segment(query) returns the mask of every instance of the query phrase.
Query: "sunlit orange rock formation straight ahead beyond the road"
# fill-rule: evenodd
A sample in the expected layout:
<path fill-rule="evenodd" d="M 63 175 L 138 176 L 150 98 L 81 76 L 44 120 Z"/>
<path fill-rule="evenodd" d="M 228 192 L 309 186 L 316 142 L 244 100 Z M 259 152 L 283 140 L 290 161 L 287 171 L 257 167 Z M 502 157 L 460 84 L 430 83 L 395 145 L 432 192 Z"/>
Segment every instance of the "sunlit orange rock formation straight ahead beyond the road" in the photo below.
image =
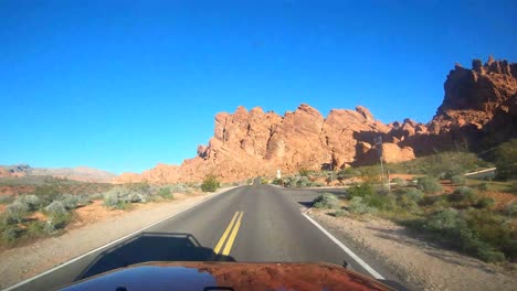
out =
<path fill-rule="evenodd" d="M 390 130 L 361 106 L 356 110 L 334 109 L 326 118 L 306 104 L 284 116 L 264 112 L 260 107 L 250 111 L 238 107 L 233 114 L 215 116 L 213 138 L 208 146 L 198 147 L 196 158 L 180 166 L 160 164 L 139 175 L 126 173 L 117 182 L 189 182 L 200 181 L 208 173 L 235 181 L 271 176 L 277 169 L 284 173 L 302 168 L 339 169 L 366 157 L 373 138 Z M 390 149 L 387 160 L 414 158 L 395 143 L 386 147 Z"/>

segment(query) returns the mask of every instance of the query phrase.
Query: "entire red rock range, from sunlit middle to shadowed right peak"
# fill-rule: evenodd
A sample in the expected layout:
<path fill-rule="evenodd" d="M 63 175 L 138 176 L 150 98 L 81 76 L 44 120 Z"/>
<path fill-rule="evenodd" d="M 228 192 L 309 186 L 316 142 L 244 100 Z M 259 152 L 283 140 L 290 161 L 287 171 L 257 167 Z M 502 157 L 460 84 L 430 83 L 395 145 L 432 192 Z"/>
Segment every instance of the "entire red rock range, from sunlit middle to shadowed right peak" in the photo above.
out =
<path fill-rule="evenodd" d="M 327 117 L 302 104 L 283 116 L 250 111 L 215 116 L 214 134 L 208 146 L 198 147 L 193 159 L 180 166 L 159 164 L 143 174 L 125 173 L 118 182 L 176 183 L 201 181 L 208 173 L 222 181 L 241 181 L 258 175 L 274 176 L 277 169 L 294 173 L 299 169 L 339 169 L 379 161 L 402 162 L 436 150 L 482 150 L 511 137 L 517 130 L 517 64 L 473 61 L 472 69 L 460 64 L 450 72 L 445 96 L 434 118 L 426 125 L 409 118 L 384 125 L 368 108 L 333 109 Z M 383 143 L 374 146 L 381 137 Z"/>

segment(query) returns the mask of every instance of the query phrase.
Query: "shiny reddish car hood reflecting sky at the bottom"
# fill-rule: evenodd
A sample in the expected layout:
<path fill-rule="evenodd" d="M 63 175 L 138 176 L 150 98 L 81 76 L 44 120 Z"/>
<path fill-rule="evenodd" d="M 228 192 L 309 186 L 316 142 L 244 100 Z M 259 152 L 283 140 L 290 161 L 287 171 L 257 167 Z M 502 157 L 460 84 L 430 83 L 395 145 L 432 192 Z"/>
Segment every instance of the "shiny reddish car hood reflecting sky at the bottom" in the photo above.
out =
<path fill-rule="evenodd" d="M 392 290 L 331 263 L 146 262 L 62 290 Z"/>

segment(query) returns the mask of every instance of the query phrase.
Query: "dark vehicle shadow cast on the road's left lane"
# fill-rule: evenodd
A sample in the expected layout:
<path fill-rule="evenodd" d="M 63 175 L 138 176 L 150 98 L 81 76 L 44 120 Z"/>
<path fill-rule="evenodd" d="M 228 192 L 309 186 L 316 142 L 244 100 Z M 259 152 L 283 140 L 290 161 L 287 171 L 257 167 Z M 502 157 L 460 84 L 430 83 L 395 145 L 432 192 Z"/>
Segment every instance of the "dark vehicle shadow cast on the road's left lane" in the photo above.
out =
<path fill-rule="evenodd" d="M 103 251 L 75 280 L 146 261 L 235 261 L 235 259 L 217 255 L 213 249 L 202 247 L 190 234 L 141 233 Z"/>

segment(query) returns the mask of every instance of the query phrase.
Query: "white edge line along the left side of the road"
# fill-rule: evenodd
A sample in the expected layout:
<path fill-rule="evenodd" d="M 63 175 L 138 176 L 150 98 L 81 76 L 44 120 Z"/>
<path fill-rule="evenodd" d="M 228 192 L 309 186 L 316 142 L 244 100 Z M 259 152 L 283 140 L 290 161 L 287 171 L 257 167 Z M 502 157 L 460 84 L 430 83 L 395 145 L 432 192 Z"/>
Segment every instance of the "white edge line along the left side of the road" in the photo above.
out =
<path fill-rule="evenodd" d="M 116 240 L 114 240 L 114 241 L 112 241 L 112 242 L 108 242 L 108 244 L 106 244 L 106 245 L 104 245 L 104 246 L 101 246 L 101 247 L 98 247 L 98 248 L 96 248 L 96 249 L 93 249 L 93 250 L 91 250 L 91 251 L 88 251 L 88 252 L 86 252 L 86 254 L 83 254 L 83 255 L 81 255 L 81 256 L 74 258 L 74 259 L 71 259 L 70 261 L 65 261 L 65 262 L 63 262 L 63 263 L 61 263 L 61 265 L 59 265 L 59 266 L 56 266 L 56 267 L 54 267 L 54 268 L 52 268 L 52 269 L 50 269 L 50 270 L 46 270 L 46 271 L 44 271 L 44 272 L 42 272 L 42 273 L 39 273 L 39 274 L 36 274 L 36 276 L 32 277 L 32 278 L 29 278 L 29 279 L 23 280 L 23 281 L 21 281 L 21 282 L 19 282 L 19 283 L 15 283 L 15 284 L 13 284 L 13 285 L 11 285 L 11 287 L 8 287 L 7 289 L 3 289 L 2 291 L 10 291 L 10 290 L 17 289 L 17 288 L 19 288 L 19 287 L 21 287 L 21 285 L 23 285 L 23 284 L 27 284 L 27 283 L 29 283 L 30 281 L 33 281 L 33 280 L 35 280 L 35 279 L 38 279 L 38 278 L 40 278 L 40 277 L 43 277 L 43 276 L 45 276 L 45 274 L 49 274 L 49 273 L 55 271 L 55 270 L 57 270 L 57 269 L 61 269 L 61 268 L 63 268 L 63 267 L 65 267 L 65 266 L 68 266 L 68 265 L 71 265 L 72 262 L 75 262 L 75 261 L 77 261 L 77 260 L 81 260 L 82 258 L 84 258 L 84 257 L 86 257 L 86 256 L 89 256 L 89 255 L 92 255 L 92 254 L 94 254 L 94 252 L 96 252 L 96 251 L 98 251 L 98 250 L 102 250 L 103 248 L 106 248 L 106 247 L 109 247 L 109 246 L 115 245 L 115 244 L 117 244 L 117 242 L 120 242 L 122 240 L 125 240 L 126 238 L 129 238 L 129 237 L 131 237 L 131 236 L 134 236 L 134 235 L 136 235 L 136 234 L 138 234 L 138 233 L 141 233 L 141 231 L 146 230 L 147 228 L 150 228 L 150 227 L 152 227 L 152 226 L 155 226 L 155 225 L 158 225 L 158 224 L 160 224 L 160 223 L 162 223 L 162 222 L 165 222 L 165 220 L 167 220 L 167 219 L 169 219 L 169 218 L 172 218 L 172 217 L 175 217 L 175 216 L 178 215 L 178 214 L 181 214 L 181 213 L 184 213 L 184 212 L 187 212 L 187 211 L 190 211 L 190 209 L 192 209 L 193 207 L 200 205 L 201 203 L 207 202 L 207 201 L 209 201 L 209 200 L 212 200 L 212 198 L 214 198 L 214 197 L 218 197 L 219 195 L 221 195 L 221 194 L 223 194 L 223 193 L 226 193 L 228 191 L 233 190 L 233 188 L 236 188 L 236 187 L 232 187 L 232 188 L 222 191 L 221 193 L 215 193 L 215 194 L 213 194 L 212 196 L 207 197 L 207 198 L 204 198 L 204 200 L 202 200 L 202 201 L 196 203 L 194 205 L 192 205 L 192 206 L 190 206 L 190 207 L 188 207 L 188 208 L 184 208 L 184 209 L 182 209 L 182 211 L 180 211 L 180 212 L 177 212 L 177 213 L 175 213 L 175 214 L 172 214 L 172 215 L 170 215 L 170 216 L 168 216 L 168 217 L 166 217 L 166 218 L 163 218 L 163 219 L 161 219 L 161 220 L 159 220 L 159 222 L 157 222 L 157 223 L 154 223 L 154 224 L 151 224 L 151 225 L 149 225 L 149 226 L 146 226 L 146 227 L 139 229 L 139 230 L 136 230 L 135 233 L 131 233 L 131 234 L 126 235 L 126 236 L 124 236 L 124 237 L 120 237 L 120 238 L 118 238 L 118 239 L 116 239 Z"/>

